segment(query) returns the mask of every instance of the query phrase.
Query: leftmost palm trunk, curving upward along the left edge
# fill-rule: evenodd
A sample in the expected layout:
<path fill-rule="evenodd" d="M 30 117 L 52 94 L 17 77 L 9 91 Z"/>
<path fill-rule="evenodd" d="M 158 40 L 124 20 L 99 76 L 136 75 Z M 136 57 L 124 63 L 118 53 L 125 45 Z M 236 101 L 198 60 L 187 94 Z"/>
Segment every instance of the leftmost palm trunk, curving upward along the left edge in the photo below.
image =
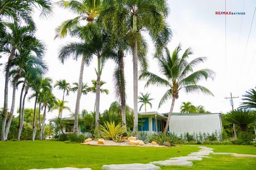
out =
<path fill-rule="evenodd" d="M 10 77 L 10 69 L 11 63 L 13 60 L 15 49 L 12 49 L 12 52 L 8 58 L 6 72 L 5 72 L 5 84 L 4 84 L 4 111 L 2 114 L 2 127 L 1 127 L 1 140 L 5 139 L 5 125 L 7 120 L 7 111 L 8 111 L 8 84 L 9 84 L 9 77 Z"/>

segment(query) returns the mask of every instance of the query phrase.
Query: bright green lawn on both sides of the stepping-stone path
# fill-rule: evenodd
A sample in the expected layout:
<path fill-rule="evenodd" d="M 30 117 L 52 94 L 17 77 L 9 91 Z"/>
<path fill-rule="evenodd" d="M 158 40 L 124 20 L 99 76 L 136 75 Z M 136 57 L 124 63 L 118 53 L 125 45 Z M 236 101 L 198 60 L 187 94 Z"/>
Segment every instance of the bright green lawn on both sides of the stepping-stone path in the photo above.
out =
<path fill-rule="evenodd" d="M 253 146 L 216 146 L 215 152 L 237 152 L 256 155 Z M 103 147 L 57 141 L 0 142 L 0 169 L 30 169 L 49 167 L 90 167 L 101 169 L 105 164 L 149 163 L 170 157 L 186 156 L 197 147 Z M 162 167 L 162 169 L 255 169 L 255 158 L 234 158 L 213 155 L 192 167 Z"/>

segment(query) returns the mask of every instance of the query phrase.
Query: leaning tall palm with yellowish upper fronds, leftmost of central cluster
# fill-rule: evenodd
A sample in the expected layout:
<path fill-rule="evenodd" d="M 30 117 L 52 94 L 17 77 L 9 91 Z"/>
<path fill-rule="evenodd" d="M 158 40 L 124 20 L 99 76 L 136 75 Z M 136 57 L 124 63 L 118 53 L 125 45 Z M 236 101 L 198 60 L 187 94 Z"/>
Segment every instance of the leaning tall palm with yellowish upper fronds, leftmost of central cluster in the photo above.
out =
<path fill-rule="evenodd" d="M 82 92 L 82 82 L 83 82 L 83 71 L 84 71 L 84 64 L 89 65 L 91 61 L 91 57 L 86 52 L 85 43 L 86 41 L 90 41 L 92 39 L 92 30 L 94 28 L 93 22 L 94 19 L 99 16 L 99 12 L 101 10 L 101 1 L 100 0 L 85 0 L 83 2 L 80 1 L 60 1 L 60 6 L 64 8 L 68 8 L 69 10 L 73 11 L 74 13 L 78 14 L 78 16 L 74 19 L 64 21 L 57 29 L 56 37 L 65 37 L 68 32 L 71 35 L 77 36 L 81 33 L 77 33 L 79 29 L 77 27 L 80 25 L 82 20 L 86 20 L 88 23 L 82 27 L 84 35 L 80 38 L 83 39 L 83 43 L 70 43 L 67 46 L 64 46 L 60 50 L 59 59 L 62 61 L 66 60 L 68 56 L 71 54 L 75 54 L 75 58 L 77 60 L 78 56 L 82 56 L 82 62 L 80 67 L 80 74 L 79 74 L 79 81 L 78 81 L 78 90 L 77 90 L 77 97 L 76 97 L 76 108 L 75 108 L 75 124 L 74 124 L 74 132 L 78 134 L 78 114 L 79 114 L 79 106 L 80 106 L 80 99 L 81 99 L 81 92 Z M 75 30 L 75 31 L 74 31 Z M 75 33 L 71 33 L 71 32 Z M 80 29 L 81 32 L 81 29 Z M 62 53 L 63 52 L 63 53 Z"/>

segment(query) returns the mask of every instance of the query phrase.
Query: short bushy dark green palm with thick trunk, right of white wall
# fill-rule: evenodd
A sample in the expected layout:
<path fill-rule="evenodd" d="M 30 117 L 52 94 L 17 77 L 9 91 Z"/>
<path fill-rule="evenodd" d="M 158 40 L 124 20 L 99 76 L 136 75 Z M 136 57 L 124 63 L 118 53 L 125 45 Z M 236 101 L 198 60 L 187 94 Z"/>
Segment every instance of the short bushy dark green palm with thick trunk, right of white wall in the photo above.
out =
<path fill-rule="evenodd" d="M 256 122 L 256 115 L 252 111 L 234 110 L 226 115 L 225 120 L 229 123 L 237 124 L 240 126 L 241 132 L 247 132 L 247 126 Z"/>

